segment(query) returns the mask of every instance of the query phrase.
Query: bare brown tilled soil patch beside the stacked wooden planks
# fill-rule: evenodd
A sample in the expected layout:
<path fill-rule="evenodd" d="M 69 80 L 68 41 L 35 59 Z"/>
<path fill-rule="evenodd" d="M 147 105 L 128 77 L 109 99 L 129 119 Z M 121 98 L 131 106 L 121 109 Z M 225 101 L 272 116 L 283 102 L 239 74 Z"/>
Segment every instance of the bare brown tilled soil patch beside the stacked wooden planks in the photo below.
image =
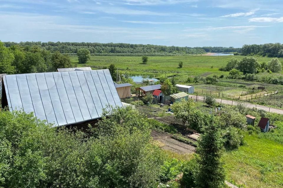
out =
<path fill-rule="evenodd" d="M 152 131 L 151 136 L 154 140 L 157 140 L 163 144 L 161 146 L 162 149 L 170 150 L 180 154 L 188 154 L 195 152 L 195 147 L 172 139 L 170 137 L 170 134 Z"/>

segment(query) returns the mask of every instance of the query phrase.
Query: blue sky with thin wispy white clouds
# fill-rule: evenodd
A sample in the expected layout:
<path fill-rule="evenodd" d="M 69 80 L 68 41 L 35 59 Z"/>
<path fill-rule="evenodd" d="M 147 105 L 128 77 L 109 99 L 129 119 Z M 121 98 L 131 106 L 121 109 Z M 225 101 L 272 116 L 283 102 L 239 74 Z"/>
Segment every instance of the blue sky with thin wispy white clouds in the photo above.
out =
<path fill-rule="evenodd" d="M 0 0 L 0 40 L 189 47 L 282 43 L 282 7 L 282 0 Z"/>

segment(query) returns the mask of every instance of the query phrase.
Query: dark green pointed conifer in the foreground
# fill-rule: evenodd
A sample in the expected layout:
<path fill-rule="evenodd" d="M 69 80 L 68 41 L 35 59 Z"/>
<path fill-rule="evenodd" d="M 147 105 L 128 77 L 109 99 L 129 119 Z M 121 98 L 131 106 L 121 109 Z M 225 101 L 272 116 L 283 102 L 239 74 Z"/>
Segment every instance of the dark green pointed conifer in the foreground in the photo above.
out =
<path fill-rule="evenodd" d="M 203 129 L 198 140 L 198 172 L 196 184 L 199 188 L 221 188 L 224 185 L 225 172 L 221 162 L 223 141 L 213 116 Z"/>

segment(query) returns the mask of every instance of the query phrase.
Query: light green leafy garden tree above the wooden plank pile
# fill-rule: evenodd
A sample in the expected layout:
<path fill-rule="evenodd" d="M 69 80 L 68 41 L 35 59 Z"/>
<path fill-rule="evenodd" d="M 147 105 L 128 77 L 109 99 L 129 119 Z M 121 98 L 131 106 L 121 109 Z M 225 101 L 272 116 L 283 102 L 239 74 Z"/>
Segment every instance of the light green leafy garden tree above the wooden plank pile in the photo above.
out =
<path fill-rule="evenodd" d="M 181 99 L 181 102 L 176 102 L 171 106 L 176 119 L 182 121 L 183 128 L 185 128 L 186 122 L 195 130 L 200 130 L 204 124 L 204 115 L 200 110 L 197 110 L 194 106 L 192 99 Z"/>

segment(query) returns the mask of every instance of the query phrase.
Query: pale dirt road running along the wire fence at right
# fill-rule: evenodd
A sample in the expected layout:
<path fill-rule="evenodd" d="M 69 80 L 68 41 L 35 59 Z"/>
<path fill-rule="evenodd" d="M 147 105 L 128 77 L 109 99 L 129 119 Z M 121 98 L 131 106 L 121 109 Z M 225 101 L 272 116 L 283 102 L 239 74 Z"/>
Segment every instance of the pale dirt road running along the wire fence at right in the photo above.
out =
<path fill-rule="evenodd" d="M 203 101 L 204 96 L 200 96 L 200 95 L 189 95 L 190 98 L 195 99 L 197 101 Z M 215 98 L 216 102 L 218 103 L 223 103 L 223 104 L 227 104 L 227 105 L 237 105 L 237 104 L 244 104 L 246 107 L 248 108 L 257 108 L 257 109 L 262 109 L 265 110 L 266 112 L 271 112 L 271 113 L 277 113 L 277 114 L 283 114 L 283 110 L 282 109 L 277 109 L 277 108 L 271 108 L 271 107 L 267 107 L 267 106 L 261 106 L 261 105 L 254 105 L 251 103 L 243 103 L 243 102 L 237 102 L 234 100 L 225 100 L 225 99 L 219 99 L 219 98 Z"/>

